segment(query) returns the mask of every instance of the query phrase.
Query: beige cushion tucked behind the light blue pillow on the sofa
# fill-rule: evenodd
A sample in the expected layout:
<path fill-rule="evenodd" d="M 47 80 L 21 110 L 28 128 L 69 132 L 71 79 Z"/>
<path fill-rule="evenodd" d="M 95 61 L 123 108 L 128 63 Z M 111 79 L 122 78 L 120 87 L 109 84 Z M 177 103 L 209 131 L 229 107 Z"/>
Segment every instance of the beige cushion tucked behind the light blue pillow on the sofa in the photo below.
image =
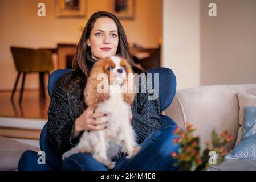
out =
<path fill-rule="evenodd" d="M 245 106 L 256 106 L 256 96 L 246 93 L 237 93 L 238 103 L 239 103 L 239 127 L 237 134 L 237 141 L 235 142 L 235 146 L 239 142 L 241 142 L 241 138 L 243 135 L 243 119 L 245 118 L 244 110 Z"/>

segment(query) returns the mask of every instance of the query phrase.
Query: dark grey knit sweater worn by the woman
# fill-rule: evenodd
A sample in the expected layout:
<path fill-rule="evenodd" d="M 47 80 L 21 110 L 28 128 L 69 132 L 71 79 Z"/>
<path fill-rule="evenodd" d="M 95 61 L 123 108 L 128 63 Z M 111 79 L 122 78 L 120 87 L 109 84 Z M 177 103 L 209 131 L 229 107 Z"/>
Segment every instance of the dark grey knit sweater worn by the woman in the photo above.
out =
<path fill-rule="evenodd" d="M 59 78 L 48 109 L 50 144 L 59 154 L 76 146 L 83 134 L 82 132 L 72 139 L 75 120 L 87 108 L 84 104 L 83 85 L 72 81 L 75 74 L 75 72 L 70 72 Z M 148 100 L 148 93 L 137 93 L 132 106 L 132 114 L 132 126 L 138 143 L 143 142 L 149 134 L 161 129 L 159 98 Z"/>

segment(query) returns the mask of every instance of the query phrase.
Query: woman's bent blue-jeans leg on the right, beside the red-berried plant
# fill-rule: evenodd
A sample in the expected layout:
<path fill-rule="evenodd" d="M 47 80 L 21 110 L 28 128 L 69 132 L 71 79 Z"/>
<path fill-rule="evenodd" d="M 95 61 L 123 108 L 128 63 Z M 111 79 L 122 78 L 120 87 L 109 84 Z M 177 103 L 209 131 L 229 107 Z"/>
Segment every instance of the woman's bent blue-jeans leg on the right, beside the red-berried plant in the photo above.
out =
<path fill-rule="evenodd" d="M 171 152 L 178 151 L 179 145 L 173 143 L 177 138 L 173 134 L 176 126 L 168 126 L 157 130 L 141 143 L 141 150 L 131 159 L 117 160 L 115 170 L 176 170 L 177 160 Z"/>

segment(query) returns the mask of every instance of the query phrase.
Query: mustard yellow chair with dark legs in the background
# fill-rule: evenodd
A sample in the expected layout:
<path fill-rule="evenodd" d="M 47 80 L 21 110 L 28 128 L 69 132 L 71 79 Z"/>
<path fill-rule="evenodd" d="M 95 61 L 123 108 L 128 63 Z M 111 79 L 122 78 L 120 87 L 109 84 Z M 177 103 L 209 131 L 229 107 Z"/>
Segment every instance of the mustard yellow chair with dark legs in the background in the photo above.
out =
<path fill-rule="evenodd" d="M 45 97 L 44 92 L 44 73 L 50 76 L 50 71 L 54 69 L 52 63 L 51 51 L 43 51 L 39 49 L 30 49 L 22 47 L 11 46 L 11 53 L 13 55 L 13 60 L 15 68 L 18 71 L 18 76 L 14 84 L 13 92 L 11 93 L 11 100 L 13 101 L 14 94 L 17 88 L 19 77 L 23 73 L 21 93 L 19 95 L 19 102 L 22 101 L 23 89 L 25 84 L 25 77 L 27 73 L 39 73 L 40 77 L 40 90 L 43 97 Z"/>

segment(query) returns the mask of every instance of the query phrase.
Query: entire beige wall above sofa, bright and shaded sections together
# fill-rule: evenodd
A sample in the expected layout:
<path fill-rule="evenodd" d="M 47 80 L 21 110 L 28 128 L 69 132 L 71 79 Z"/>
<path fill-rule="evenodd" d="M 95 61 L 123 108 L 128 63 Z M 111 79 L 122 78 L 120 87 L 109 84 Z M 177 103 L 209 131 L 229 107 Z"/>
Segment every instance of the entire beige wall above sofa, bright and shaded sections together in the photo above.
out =
<path fill-rule="evenodd" d="M 177 89 L 256 82 L 255 9 L 254 0 L 163 1 L 162 65 Z"/>

